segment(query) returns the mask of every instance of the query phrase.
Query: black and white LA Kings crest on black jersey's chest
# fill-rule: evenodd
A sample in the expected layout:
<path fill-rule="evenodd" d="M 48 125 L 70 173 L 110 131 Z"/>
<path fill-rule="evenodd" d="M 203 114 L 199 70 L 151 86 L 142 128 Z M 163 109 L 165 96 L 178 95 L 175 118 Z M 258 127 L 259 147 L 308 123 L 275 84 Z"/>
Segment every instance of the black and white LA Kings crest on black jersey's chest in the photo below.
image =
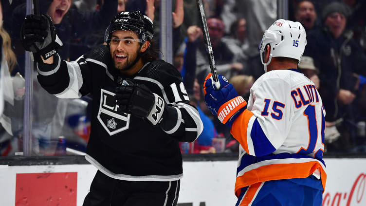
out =
<path fill-rule="evenodd" d="M 129 126 L 130 114 L 118 109 L 114 93 L 100 89 L 100 105 L 98 120 L 103 128 L 111 135 L 125 131 Z"/>

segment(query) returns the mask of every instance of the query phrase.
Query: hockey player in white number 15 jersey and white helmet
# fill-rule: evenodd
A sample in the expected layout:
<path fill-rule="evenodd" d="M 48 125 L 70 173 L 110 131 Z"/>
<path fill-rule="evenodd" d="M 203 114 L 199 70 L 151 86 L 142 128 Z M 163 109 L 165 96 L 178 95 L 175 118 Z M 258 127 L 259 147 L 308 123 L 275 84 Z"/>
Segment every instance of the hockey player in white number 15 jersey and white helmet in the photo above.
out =
<path fill-rule="evenodd" d="M 306 46 L 299 22 L 276 20 L 264 32 L 265 74 L 248 103 L 219 75 L 204 83 L 205 102 L 240 143 L 236 206 L 321 206 L 325 110 L 314 83 L 297 70 Z"/>

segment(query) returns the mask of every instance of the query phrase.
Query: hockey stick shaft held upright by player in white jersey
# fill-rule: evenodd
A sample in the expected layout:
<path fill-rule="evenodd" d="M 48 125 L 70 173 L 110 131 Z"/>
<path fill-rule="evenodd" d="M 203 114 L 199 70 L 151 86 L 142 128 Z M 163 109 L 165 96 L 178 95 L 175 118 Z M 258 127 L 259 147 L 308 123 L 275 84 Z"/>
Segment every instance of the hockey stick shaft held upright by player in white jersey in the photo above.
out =
<path fill-rule="evenodd" d="M 210 63 L 212 79 L 214 80 L 214 84 L 216 86 L 216 89 L 218 90 L 218 89 L 220 89 L 221 85 L 220 85 L 219 77 L 217 75 L 216 64 L 215 64 L 215 59 L 214 59 L 214 53 L 212 51 L 210 37 L 208 36 L 206 15 L 204 13 L 202 0 L 196 0 L 196 3 L 197 3 L 198 13 L 200 15 L 201 23 L 202 23 L 203 38 L 204 38 L 204 43 L 205 43 L 205 46 L 206 46 L 208 61 Z"/>

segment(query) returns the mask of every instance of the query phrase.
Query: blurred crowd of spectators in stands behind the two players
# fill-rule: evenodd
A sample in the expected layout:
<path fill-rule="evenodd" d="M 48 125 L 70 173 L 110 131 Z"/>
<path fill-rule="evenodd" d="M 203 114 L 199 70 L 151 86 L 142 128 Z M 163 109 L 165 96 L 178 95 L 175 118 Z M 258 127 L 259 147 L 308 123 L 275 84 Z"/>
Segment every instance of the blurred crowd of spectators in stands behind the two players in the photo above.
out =
<path fill-rule="evenodd" d="M 50 15 L 63 42 L 59 51 L 63 59 L 76 60 L 93 46 L 103 44 L 105 29 L 121 11 L 146 13 L 154 21 L 154 40 L 159 42 L 160 0 L 41 0 L 40 3 L 41 13 Z M 203 0 L 203 3 L 218 73 L 229 79 L 238 94 L 248 100 L 251 86 L 264 74 L 258 45 L 263 32 L 279 19 L 277 2 Z M 27 69 L 25 51 L 19 41 L 26 3 L 23 0 L 1 0 L 1 5 L 1 29 L 9 33 L 11 49 L 17 59 L 17 63 L 14 60 L 8 63 L 13 68 L 11 75 L 17 79 L 17 76 L 24 76 Z M 204 124 L 197 141 L 181 143 L 182 152 L 237 153 L 238 142 L 207 110 L 203 100 L 202 83 L 210 73 L 210 66 L 196 0 L 174 0 L 173 8 L 172 64 L 181 72 L 189 99 L 198 108 Z M 289 0 L 288 20 L 301 22 L 307 32 L 307 46 L 298 68 L 315 83 L 327 112 L 326 153 L 366 152 L 365 10 L 366 0 Z M 68 147 L 85 151 L 90 132 L 88 102 L 91 98 L 58 99 L 43 91 L 35 80 L 32 108 L 34 151 L 49 155 L 42 153 L 42 148 L 47 150 L 52 145 L 50 142 L 57 143 L 60 136 L 70 143 Z M 20 103 L 8 108 L 22 111 L 22 98 L 18 101 Z M 19 114 L 13 115 L 10 133 L 9 127 L 0 121 L 0 155 L 13 155 L 14 152 L 10 151 L 21 150 L 22 126 L 19 125 L 22 118 Z M 16 143 L 9 136 L 16 138 Z M 223 140 L 220 142 L 224 145 L 220 148 L 220 145 L 213 144 L 217 142 L 214 139 Z M 18 146 L 12 147 L 14 144 Z"/>

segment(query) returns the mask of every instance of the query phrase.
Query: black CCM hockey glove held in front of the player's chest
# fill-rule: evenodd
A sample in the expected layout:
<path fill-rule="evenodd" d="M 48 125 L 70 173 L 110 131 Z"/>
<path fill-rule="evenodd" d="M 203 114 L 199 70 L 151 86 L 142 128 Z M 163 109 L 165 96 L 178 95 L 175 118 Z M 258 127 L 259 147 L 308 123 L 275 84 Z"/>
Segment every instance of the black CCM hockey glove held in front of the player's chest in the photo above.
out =
<path fill-rule="evenodd" d="M 116 88 L 116 93 L 116 103 L 123 112 L 145 117 L 153 125 L 157 125 L 162 120 L 165 102 L 145 85 L 126 79 L 121 87 Z"/>

